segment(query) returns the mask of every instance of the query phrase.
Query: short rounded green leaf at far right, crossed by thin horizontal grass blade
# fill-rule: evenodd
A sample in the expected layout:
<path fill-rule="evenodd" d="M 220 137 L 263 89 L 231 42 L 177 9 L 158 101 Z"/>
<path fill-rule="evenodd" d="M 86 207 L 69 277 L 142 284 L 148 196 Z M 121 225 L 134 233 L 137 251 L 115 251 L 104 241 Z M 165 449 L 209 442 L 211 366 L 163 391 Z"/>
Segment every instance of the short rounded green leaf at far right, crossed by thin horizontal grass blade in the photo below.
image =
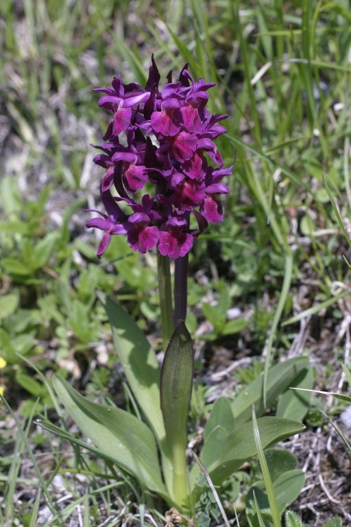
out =
<path fill-rule="evenodd" d="M 313 388 L 313 373 L 311 366 L 304 368 L 291 383 L 291 388 Z M 280 395 L 276 411 L 277 417 L 288 417 L 301 421 L 308 412 L 311 401 L 310 392 L 291 390 L 290 387 Z"/>

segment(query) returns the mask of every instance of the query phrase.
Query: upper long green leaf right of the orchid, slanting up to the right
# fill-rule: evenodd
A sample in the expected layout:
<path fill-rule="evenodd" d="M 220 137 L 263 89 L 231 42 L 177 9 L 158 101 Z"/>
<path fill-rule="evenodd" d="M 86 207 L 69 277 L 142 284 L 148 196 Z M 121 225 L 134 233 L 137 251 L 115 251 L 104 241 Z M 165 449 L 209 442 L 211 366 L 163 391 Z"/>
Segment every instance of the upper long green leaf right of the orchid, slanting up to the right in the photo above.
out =
<path fill-rule="evenodd" d="M 267 406 L 284 392 L 293 379 L 308 364 L 308 358 L 298 357 L 281 362 L 270 368 L 267 376 Z M 232 412 L 235 426 L 246 423 L 251 418 L 252 404 L 255 405 L 256 415 L 259 417 L 265 412 L 263 405 L 263 375 L 257 377 L 249 384 L 232 402 Z"/>

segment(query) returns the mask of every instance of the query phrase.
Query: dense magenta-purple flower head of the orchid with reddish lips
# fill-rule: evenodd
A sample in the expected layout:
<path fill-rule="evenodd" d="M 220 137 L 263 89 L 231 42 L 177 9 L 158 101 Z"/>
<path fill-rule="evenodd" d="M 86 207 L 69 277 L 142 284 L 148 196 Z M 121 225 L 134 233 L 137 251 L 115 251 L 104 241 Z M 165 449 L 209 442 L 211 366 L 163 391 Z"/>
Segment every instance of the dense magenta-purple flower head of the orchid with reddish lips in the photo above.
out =
<path fill-rule="evenodd" d="M 209 114 L 205 106 L 208 89 L 214 83 L 204 79 L 193 81 L 188 64 L 177 82 L 168 83 L 159 91 L 160 73 L 152 56 L 152 66 L 145 89 L 136 82 L 123 84 L 118 76 L 112 88 L 99 88 L 105 95 L 99 106 L 111 110 L 113 118 L 102 146 L 94 158 L 106 169 L 101 183 L 101 200 L 107 214 L 90 220 L 86 226 L 104 231 L 97 250 L 101 256 L 111 235 L 127 235 L 130 247 L 139 253 L 157 246 L 161 255 L 171 259 L 189 253 L 194 239 L 206 229 L 208 222 L 223 220 L 217 196 L 228 194 L 229 187 L 219 183 L 232 173 L 223 168 L 223 160 L 213 139 L 226 132 L 219 121 L 227 115 Z M 125 132 L 127 146 L 119 142 Z M 204 152 L 219 167 L 208 165 Z M 156 185 L 156 198 L 144 194 L 141 202 L 130 197 L 145 187 Z M 117 196 L 110 189 L 114 185 Z M 119 202 L 126 202 L 128 215 Z M 189 229 L 189 215 L 195 215 L 198 229 Z"/>

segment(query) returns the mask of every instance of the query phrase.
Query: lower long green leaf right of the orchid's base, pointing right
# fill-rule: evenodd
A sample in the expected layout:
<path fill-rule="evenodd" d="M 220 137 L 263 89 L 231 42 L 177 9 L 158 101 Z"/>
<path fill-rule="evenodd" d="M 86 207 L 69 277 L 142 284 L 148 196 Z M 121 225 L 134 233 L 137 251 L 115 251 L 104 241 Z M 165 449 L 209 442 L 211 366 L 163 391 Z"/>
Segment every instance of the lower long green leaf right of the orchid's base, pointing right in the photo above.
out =
<path fill-rule="evenodd" d="M 282 417 L 261 417 L 257 419 L 258 430 L 263 448 L 267 448 L 279 441 L 303 432 L 306 427 L 297 421 Z M 217 466 L 210 471 L 214 484 L 221 484 L 232 475 L 245 461 L 257 454 L 252 423 L 245 423 L 230 434 L 223 445 L 222 452 L 218 452 Z M 191 470 L 191 488 L 195 485 L 198 475 L 196 465 Z"/>

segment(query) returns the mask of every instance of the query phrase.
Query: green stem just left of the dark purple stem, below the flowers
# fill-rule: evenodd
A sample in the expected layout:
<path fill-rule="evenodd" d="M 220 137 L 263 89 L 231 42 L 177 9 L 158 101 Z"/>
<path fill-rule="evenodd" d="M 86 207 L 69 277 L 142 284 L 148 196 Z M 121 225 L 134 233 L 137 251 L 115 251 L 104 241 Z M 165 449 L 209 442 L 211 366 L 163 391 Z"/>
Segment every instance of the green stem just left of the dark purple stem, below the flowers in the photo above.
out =
<path fill-rule="evenodd" d="M 171 269 L 169 267 L 169 257 L 157 253 L 158 270 L 158 292 L 160 294 L 161 327 L 163 339 L 163 351 L 166 351 L 173 335 L 173 307 L 172 307 L 172 288 L 171 288 Z"/>

